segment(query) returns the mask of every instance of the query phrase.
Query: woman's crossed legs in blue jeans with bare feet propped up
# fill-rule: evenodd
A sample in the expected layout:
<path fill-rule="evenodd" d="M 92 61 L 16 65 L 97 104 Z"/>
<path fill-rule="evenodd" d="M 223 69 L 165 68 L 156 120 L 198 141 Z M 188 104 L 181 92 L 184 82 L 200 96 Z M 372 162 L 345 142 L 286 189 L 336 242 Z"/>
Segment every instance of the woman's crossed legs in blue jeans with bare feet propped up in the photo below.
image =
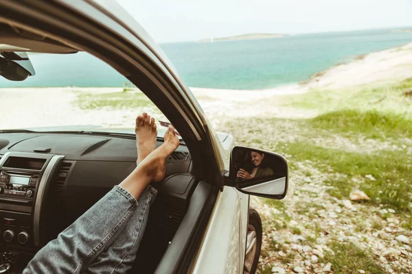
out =
<path fill-rule="evenodd" d="M 137 133 L 139 129 L 147 134 L 146 120 L 141 122 L 142 127 L 138 127 L 139 121 L 138 117 Z M 146 158 L 142 156 L 144 149 L 139 151 L 137 168 L 38 251 L 23 273 L 113 273 L 129 269 L 146 227 L 148 208 L 156 195 L 148 184 L 163 179 L 165 160 L 178 145 L 170 127 L 158 149 L 151 153 L 148 149 Z"/>

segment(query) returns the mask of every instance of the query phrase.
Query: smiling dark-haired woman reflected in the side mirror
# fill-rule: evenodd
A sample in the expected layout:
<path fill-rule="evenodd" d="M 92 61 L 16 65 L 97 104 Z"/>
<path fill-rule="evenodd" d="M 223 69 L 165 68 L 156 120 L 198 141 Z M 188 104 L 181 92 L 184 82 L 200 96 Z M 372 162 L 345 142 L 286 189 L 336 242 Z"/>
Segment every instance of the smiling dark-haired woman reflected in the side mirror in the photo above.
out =
<path fill-rule="evenodd" d="M 273 175 L 273 170 L 266 166 L 265 154 L 258 151 L 251 151 L 249 153 L 249 160 L 247 160 L 244 169 L 239 169 L 237 177 L 241 179 L 253 179 Z"/>

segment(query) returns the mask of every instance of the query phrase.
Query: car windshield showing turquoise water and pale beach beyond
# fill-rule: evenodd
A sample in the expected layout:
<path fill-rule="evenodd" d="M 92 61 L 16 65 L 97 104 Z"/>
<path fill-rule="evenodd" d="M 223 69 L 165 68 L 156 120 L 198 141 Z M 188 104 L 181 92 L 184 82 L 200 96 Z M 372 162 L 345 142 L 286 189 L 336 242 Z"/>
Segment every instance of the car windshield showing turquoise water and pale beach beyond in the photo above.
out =
<path fill-rule="evenodd" d="M 89 53 L 27 55 L 34 76 L 0 77 L 0 129 L 134 134 L 142 112 L 168 122 L 126 77 Z M 162 137 L 163 127 L 158 128 Z"/>

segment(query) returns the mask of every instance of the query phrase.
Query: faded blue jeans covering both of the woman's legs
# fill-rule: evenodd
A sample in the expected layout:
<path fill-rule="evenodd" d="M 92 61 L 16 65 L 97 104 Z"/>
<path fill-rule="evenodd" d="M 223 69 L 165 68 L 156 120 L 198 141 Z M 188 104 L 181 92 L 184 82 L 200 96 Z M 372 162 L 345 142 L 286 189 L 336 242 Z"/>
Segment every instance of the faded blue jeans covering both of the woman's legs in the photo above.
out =
<path fill-rule="evenodd" d="M 139 199 L 115 186 L 27 264 L 26 273 L 126 273 L 133 265 L 157 190 Z"/>

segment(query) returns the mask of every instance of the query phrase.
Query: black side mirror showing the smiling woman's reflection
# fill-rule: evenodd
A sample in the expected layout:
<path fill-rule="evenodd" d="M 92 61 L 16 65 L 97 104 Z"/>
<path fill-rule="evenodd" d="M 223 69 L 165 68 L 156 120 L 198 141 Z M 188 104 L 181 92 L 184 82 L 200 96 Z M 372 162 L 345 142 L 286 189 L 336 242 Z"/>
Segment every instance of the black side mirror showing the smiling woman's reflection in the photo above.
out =
<path fill-rule="evenodd" d="M 288 162 L 277 153 L 233 147 L 229 179 L 240 192 L 283 199 L 288 190 Z"/>

